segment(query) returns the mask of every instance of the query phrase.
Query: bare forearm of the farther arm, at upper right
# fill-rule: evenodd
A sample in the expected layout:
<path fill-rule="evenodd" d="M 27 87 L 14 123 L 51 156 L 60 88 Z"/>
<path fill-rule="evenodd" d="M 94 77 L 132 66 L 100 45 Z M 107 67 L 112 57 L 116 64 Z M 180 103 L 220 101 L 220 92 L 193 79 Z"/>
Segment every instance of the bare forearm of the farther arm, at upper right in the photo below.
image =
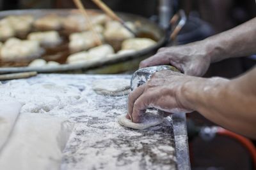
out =
<path fill-rule="evenodd" d="M 256 53 L 256 18 L 204 39 L 211 62 Z"/>

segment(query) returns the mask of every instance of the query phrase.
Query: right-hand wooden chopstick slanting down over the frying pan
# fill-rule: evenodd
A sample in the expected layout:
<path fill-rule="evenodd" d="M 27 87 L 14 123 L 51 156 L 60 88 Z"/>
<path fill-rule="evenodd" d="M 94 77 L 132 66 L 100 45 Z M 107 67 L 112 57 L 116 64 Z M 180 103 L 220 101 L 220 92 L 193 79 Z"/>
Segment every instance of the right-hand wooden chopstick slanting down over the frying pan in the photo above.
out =
<path fill-rule="evenodd" d="M 118 22 L 120 22 L 120 24 L 122 24 L 125 29 L 127 29 L 129 32 L 131 32 L 132 34 L 134 34 L 134 36 L 136 36 L 136 32 L 132 31 L 124 22 L 124 20 L 122 20 L 122 18 L 118 17 L 115 12 L 113 10 L 111 10 L 105 3 L 103 3 L 101 0 L 92 0 L 93 3 L 97 4 L 97 6 L 99 6 L 99 8 L 104 11 L 109 17 L 111 17 L 113 20 L 116 20 Z"/>

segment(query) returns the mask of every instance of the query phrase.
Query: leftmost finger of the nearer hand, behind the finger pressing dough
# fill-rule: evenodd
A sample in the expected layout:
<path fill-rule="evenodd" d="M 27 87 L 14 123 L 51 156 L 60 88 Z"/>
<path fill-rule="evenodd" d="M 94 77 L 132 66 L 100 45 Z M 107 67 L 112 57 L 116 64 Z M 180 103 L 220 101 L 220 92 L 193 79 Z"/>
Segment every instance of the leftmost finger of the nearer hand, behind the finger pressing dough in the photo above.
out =
<path fill-rule="evenodd" d="M 128 115 L 130 118 L 132 118 L 131 115 L 132 115 L 134 103 L 135 103 L 136 99 L 138 99 L 138 97 L 140 97 L 141 94 L 143 94 L 144 90 L 145 90 L 145 85 L 141 85 L 140 87 L 137 87 L 129 94 L 129 96 L 128 96 Z"/>

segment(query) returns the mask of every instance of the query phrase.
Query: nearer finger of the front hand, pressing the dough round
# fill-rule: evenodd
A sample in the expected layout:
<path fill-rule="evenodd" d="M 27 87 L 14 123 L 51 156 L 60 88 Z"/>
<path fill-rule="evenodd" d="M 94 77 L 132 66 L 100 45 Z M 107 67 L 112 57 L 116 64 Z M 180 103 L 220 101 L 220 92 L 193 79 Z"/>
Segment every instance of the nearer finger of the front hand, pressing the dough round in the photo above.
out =
<path fill-rule="evenodd" d="M 148 101 L 150 101 L 150 99 L 145 96 L 146 95 L 142 94 L 134 103 L 132 110 L 132 122 L 134 123 L 140 123 L 142 115 L 148 108 Z"/>

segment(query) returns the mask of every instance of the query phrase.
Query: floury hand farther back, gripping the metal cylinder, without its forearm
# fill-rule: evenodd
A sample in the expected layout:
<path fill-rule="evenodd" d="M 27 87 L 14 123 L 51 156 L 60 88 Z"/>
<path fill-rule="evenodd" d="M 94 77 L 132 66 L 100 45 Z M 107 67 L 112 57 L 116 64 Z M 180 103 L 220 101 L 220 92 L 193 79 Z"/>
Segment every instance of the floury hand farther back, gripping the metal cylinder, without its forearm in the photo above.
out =
<path fill-rule="evenodd" d="M 140 68 L 164 64 L 177 67 L 189 76 L 203 76 L 211 64 L 211 57 L 205 42 L 198 41 L 188 45 L 160 48 L 155 55 L 141 61 Z"/>

